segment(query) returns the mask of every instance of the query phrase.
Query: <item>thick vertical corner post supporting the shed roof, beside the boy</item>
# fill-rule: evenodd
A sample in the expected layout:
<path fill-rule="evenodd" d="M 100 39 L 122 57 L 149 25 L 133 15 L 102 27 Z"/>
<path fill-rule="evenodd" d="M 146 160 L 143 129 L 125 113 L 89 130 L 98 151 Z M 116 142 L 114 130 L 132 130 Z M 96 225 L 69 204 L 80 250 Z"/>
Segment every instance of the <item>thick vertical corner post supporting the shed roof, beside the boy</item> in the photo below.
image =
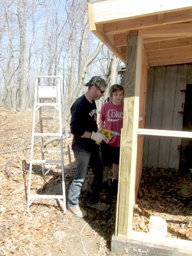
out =
<path fill-rule="evenodd" d="M 137 129 L 141 83 L 143 37 L 127 37 L 125 68 L 124 124 L 122 133 L 116 230 L 118 236 L 131 236 L 136 173 Z"/>

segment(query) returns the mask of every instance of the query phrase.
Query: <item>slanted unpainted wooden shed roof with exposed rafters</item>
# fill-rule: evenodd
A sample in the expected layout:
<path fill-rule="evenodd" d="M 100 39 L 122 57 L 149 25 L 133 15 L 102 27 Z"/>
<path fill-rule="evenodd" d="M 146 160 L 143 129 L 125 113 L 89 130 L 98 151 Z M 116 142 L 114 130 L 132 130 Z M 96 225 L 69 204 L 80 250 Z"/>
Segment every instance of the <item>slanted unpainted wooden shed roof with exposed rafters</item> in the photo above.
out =
<path fill-rule="evenodd" d="M 125 63 L 127 35 L 142 35 L 150 67 L 192 62 L 192 0 L 88 4 L 90 30 Z"/>

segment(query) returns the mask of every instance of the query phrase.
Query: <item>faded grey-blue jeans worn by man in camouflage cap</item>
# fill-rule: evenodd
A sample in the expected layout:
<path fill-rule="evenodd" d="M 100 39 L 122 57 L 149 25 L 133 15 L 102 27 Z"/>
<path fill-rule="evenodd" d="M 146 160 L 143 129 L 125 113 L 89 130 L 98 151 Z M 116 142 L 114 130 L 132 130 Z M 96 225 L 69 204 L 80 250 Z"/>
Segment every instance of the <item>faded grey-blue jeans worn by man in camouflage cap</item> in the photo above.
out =
<path fill-rule="evenodd" d="M 84 186 L 88 165 L 92 168 L 94 175 L 91 189 L 88 192 L 88 202 L 92 204 L 98 202 L 104 170 L 100 149 L 98 148 L 98 150 L 94 150 L 93 152 L 79 152 L 74 150 L 74 157 L 76 159 L 76 173 L 68 191 L 67 204 L 69 206 L 79 205 L 79 195 Z"/>

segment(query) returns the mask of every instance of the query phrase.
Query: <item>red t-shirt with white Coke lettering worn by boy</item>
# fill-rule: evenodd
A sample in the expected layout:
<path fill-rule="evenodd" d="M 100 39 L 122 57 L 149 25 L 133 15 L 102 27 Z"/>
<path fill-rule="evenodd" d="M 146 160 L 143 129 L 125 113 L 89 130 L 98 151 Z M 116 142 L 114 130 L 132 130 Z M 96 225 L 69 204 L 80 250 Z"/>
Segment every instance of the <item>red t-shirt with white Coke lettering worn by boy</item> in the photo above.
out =
<path fill-rule="evenodd" d="M 100 120 L 104 122 L 104 129 L 121 132 L 123 127 L 124 102 L 114 105 L 112 101 L 102 105 Z M 108 142 L 113 147 L 120 147 L 120 136 L 113 136 Z"/>

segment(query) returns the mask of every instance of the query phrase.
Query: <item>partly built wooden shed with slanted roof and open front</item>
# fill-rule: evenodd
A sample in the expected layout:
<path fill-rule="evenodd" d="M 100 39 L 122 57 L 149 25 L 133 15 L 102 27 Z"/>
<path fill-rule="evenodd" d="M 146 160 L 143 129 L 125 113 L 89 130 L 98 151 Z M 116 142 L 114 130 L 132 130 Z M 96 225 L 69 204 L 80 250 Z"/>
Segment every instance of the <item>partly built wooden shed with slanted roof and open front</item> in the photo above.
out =
<path fill-rule="evenodd" d="M 192 0 L 103 0 L 88 8 L 90 30 L 125 63 L 111 249 L 120 253 L 126 248 L 129 255 L 192 255 L 191 241 L 132 230 L 143 166 L 179 168 L 182 140 L 183 145 L 192 141 L 190 122 L 183 129 L 184 103 L 186 98 L 190 102 L 192 85 Z"/>

